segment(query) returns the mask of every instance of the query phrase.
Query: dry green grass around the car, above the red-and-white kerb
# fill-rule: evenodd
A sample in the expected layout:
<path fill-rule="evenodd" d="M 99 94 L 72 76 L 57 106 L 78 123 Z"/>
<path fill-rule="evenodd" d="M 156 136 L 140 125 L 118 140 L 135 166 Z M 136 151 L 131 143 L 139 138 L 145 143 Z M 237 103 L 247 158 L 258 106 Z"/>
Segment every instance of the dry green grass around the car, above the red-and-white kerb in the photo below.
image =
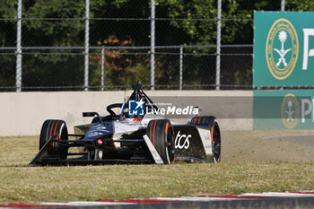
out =
<path fill-rule="evenodd" d="M 0 204 L 281 192 L 314 188 L 314 161 L 311 158 L 297 161 L 282 157 L 281 161 L 276 161 L 252 158 L 248 154 L 239 155 L 240 149 L 249 148 L 246 148 L 247 144 L 242 144 L 244 148 L 237 145 L 237 140 L 251 144 L 250 150 L 258 150 L 264 142 L 258 136 L 262 133 L 230 131 L 223 135 L 226 137 L 225 145 L 222 145 L 225 157 L 222 155 L 222 162 L 218 164 L 60 167 L 28 166 L 38 152 L 38 136 L 0 137 Z M 229 135 L 240 135 L 240 139 L 228 139 Z M 272 144 L 267 141 L 269 143 Z M 282 145 L 290 156 L 289 144 Z M 235 149 L 237 146 L 239 148 Z M 295 152 L 300 149 L 310 152 L 306 150 L 309 147 L 291 146 Z M 277 148 L 275 145 L 274 149 Z M 278 150 L 282 151 L 281 147 Z M 255 156 L 254 152 L 248 153 Z M 277 155 L 274 156 L 276 158 Z"/>

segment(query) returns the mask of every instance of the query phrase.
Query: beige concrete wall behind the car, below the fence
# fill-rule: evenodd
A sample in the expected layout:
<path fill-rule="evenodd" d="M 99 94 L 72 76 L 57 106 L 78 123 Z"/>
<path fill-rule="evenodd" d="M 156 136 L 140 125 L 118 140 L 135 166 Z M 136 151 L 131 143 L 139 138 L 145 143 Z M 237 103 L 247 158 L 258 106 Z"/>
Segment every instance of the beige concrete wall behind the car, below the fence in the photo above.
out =
<path fill-rule="evenodd" d="M 97 111 L 107 115 L 106 107 L 122 102 L 132 91 L 59 91 L 59 92 L 2 92 L 0 93 L 0 136 L 39 135 L 46 119 L 65 120 L 69 132 L 73 126 L 91 122 L 83 118 L 83 111 Z M 187 97 L 251 97 L 252 91 L 146 91 L 154 96 Z M 231 102 L 215 105 L 214 115 L 219 119 L 222 130 L 252 129 L 251 118 L 219 118 L 233 107 Z M 252 112 L 252 102 L 240 111 Z M 238 111 L 236 109 L 235 111 Z M 234 111 L 234 110 L 233 110 Z M 179 121 L 179 122 L 185 122 Z"/>

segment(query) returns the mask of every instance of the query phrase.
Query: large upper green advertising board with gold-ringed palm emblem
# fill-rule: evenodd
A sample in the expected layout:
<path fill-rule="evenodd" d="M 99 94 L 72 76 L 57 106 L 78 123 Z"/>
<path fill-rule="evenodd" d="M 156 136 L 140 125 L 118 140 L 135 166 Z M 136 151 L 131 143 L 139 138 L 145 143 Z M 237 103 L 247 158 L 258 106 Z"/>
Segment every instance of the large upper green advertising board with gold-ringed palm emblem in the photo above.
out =
<path fill-rule="evenodd" d="M 314 86 L 314 12 L 255 11 L 253 85 Z"/>

